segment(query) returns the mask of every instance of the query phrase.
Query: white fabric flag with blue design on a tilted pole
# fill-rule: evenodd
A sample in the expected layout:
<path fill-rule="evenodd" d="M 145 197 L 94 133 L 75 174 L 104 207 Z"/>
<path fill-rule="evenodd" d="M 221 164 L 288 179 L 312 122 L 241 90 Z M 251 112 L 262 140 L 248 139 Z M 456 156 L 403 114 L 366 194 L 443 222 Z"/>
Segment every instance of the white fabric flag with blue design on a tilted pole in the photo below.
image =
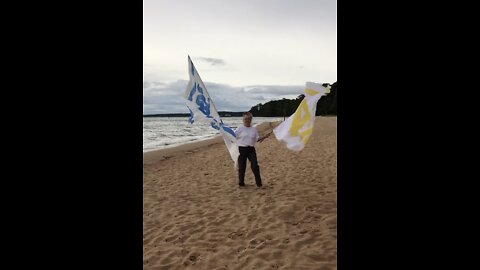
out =
<path fill-rule="evenodd" d="M 213 104 L 213 100 L 210 98 L 202 79 L 200 79 L 200 75 L 193 65 L 190 56 L 188 56 L 188 73 L 190 75 L 190 81 L 183 94 L 186 105 L 190 110 L 190 118 L 188 121 L 191 124 L 195 121 L 206 122 L 210 124 L 212 128 L 220 131 L 228 152 L 235 163 L 235 168 L 237 168 L 237 161 L 240 153 L 238 152 L 235 132 L 230 127 L 223 124 L 222 119 L 220 119 L 220 115 Z"/>

